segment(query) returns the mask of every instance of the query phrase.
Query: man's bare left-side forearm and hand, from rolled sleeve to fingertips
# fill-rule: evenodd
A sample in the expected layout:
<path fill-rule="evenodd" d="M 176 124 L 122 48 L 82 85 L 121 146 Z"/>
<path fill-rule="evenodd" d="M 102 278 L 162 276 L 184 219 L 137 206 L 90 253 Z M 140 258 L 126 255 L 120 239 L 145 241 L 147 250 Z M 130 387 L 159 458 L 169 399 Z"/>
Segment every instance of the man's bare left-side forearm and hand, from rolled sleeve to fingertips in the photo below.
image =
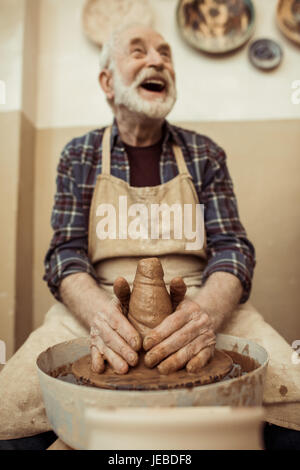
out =
<path fill-rule="evenodd" d="M 63 303 L 91 331 L 92 369 L 104 371 L 106 359 L 118 374 L 136 365 L 142 340 L 126 316 L 130 288 L 124 278 L 114 283 L 111 296 L 87 273 L 75 273 L 62 280 Z M 99 312 L 100 310 L 100 312 Z"/>

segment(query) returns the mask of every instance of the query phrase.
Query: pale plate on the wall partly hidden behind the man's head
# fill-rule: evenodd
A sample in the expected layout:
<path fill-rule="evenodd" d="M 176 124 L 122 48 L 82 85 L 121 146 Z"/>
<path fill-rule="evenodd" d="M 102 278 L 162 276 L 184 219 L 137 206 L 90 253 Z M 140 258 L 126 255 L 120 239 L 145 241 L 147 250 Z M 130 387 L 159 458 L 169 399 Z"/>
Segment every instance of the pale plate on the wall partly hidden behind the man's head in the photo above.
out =
<path fill-rule="evenodd" d="M 82 24 L 87 37 L 102 47 L 111 32 L 122 24 L 151 26 L 153 17 L 149 0 L 86 0 Z"/>

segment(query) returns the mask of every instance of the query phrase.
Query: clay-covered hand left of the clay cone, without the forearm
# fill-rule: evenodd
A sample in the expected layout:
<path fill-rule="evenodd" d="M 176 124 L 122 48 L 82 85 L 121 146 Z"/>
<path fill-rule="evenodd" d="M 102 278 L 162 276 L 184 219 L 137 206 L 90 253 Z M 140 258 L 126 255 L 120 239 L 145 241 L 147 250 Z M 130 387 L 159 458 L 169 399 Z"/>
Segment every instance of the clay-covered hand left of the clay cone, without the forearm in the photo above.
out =
<path fill-rule="evenodd" d="M 92 370 L 104 372 L 106 359 L 117 374 L 126 374 L 128 366 L 138 363 L 141 336 L 128 321 L 130 287 L 124 278 L 116 279 L 114 297 L 94 318 L 91 326 Z"/>

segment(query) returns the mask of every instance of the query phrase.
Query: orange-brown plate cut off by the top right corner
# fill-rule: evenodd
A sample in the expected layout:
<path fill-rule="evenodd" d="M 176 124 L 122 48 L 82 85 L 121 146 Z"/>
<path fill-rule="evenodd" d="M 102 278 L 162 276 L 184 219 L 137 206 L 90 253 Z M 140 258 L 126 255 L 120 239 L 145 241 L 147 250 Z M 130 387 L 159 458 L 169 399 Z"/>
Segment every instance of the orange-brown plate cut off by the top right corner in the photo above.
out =
<path fill-rule="evenodd" d="M 276 17 L 283 34 L 300 45 L 300 0 L 279 0 Z"/>

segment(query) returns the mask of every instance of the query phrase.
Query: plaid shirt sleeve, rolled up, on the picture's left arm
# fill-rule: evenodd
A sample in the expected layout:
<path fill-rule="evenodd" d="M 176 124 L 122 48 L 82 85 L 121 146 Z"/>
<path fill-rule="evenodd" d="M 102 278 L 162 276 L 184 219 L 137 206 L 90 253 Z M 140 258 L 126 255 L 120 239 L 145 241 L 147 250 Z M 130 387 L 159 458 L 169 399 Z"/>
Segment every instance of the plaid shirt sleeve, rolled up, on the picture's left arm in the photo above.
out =
<path fill-rule="evenodd" d="M 88 257 L 88 217 L 72 169 L 72 145 L 65 147 L 57 168 L 56 194 L 51 216 L 54 234 L 45 257 L 45 275 L 50 291 L 58 300 L 65 277 L 86 272 L 97 280 Z"/>

